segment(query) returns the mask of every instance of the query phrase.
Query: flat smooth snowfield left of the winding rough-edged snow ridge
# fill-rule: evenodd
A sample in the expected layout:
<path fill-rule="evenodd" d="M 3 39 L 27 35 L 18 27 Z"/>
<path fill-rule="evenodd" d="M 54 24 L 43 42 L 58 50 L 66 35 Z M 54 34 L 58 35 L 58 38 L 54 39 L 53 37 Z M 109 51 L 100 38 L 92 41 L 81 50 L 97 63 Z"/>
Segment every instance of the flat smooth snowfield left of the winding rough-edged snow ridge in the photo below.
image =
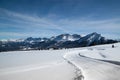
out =
<path fill-rule="evenodd" d="M 64 59 L 68 50 L 0 53 L 0 80 L 73 80 L 75 69 Z"/>

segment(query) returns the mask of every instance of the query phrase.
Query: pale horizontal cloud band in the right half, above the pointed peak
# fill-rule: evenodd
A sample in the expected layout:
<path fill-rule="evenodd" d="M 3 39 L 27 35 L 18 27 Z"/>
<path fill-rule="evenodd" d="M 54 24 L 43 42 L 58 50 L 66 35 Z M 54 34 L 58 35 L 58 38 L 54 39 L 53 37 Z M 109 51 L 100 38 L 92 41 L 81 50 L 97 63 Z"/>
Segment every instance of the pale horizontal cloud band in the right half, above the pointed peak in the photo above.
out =
<path fill-rule="evenodd" d="M 113 18 L 113 19 L 104 19 L 104 20 L 70 20 L 70 19 L 62 19 L 59 21 L 60 25 L 66 26 L 68 30 L 89 30 L 89 31 L 94 31 L 96 32 L 116 32 L 120 30 L 120 19 Z"/>

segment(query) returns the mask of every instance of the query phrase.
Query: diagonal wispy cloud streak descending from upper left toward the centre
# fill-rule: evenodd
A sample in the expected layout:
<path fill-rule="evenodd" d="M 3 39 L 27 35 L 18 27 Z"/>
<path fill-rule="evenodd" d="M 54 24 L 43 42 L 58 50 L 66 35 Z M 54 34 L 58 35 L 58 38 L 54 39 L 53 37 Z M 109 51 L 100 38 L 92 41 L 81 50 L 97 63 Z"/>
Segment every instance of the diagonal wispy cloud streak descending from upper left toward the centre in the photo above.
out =
<path fill-rule="evenodd" d="M 34 26 L 35 28 L 49 28 L 49 29 L 54 28 L 54 29 L 58 29 L 63 32 L 66 32 L 65 29 L 61 28 L 59 25 L 52 22 L 50 19 L 40 18 L 37 15 L 36 16 L 28 16 L 26 14 L 12 12 L 12 11 L 9 11 L 9 10 L 3 9 L 3 8 L 0 8 L 0 12 L 2 12 L 2 13 L 0 13 L 0 15 L 2 15 L 2 17 L 0 17 L 0 18 L 5 18 L 5 19 L 13 21 L 15 23 L 27 25 L 27 26 L 23 26 L 23 27 L 30 28 L 31 26 Z"/>

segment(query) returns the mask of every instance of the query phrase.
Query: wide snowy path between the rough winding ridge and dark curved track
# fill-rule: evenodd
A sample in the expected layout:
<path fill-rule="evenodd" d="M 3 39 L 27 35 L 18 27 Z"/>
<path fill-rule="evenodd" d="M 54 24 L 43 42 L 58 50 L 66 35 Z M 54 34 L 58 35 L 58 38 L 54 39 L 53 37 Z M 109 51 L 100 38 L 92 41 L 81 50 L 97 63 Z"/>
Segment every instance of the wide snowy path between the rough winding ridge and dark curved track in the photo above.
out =
<path fill-rule="evenodd" d="M 101 61 L 101 60 L 96 60 L 94 58 L 89 58 L 89 57 L 86 57 L 84 55 L 81 55 L 79 52 L 80 51 L 68 52 L 63 56 L 63 58 L 69 64 L 74 66 L 76 69 L 76 77 L 74 78 L 74 80 L 89 80 L 89 79 L 91 80 L 92 78 L 90 78 L 90 76 L 93 76 L 93 74 L 96 75 L 98 78 L 101 77 L 102 80 L 119 80 L 119 78 L 120 78 L 118 76 L 119 72 L 120 72 L 119 65 L 112 64 L 112 63 L 105 62 L 105 61 Z M 74 62 L 74 60 L 75 60 L 75 62 Z M 78 63 L 79 61 L 82 61 L 82 63 L 84 62 L 84 64 L 80 63 L 79 65 L 77 65 L 76 62 Z M 97 67 L 95 67 L 93 65 L 98 66 L 98 68 L 101 68 L 102 70 L 97 69 Z M 108 69 L 102 68 L 105 65 Z M 91 66 L 91 67 L 89 67 L 89 66 Z M 95 69 L 93 69 L 93 68 L 95 68 Z M 93 72 L 92 75 L 90 74 L 89 78 L 88 78 L 89 74 L 87 74 L 87 76 L 86 76 L 86 74 L 84 74 L 85 73 L 84 70 L 86 71 L 88 69 L 90 69 L 90 71 L 87 71 L 87 73 Z M 116 77 L 114 76 L 114 74 L 111 74 L 111 73 L 115 73 Z M 104 76 L 103 74 L 106 74 L 106 76 Z M 98 78 L 93 78 L 93 80 L 96 80 Z M 100 80 L 100 79 L 98 79 L 98 80 Z"/>

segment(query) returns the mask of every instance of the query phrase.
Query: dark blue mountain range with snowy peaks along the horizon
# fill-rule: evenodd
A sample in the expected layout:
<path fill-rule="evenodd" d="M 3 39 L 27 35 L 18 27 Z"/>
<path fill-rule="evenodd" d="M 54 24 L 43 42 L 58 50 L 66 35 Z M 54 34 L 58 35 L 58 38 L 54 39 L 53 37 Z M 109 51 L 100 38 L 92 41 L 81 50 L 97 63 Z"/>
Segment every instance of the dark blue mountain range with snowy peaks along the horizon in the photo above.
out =
<path fill-rule="evenodd" d="M 115 42 L 118 41 L 106 39 L 96 32 L 90 33 L 86 36 L 78 34 L 61 34 L 51 38 L 28 37 L 26 39 L 18 39 L 14 41 L 0 41 L 0 51 L 76 48 Z"/>

